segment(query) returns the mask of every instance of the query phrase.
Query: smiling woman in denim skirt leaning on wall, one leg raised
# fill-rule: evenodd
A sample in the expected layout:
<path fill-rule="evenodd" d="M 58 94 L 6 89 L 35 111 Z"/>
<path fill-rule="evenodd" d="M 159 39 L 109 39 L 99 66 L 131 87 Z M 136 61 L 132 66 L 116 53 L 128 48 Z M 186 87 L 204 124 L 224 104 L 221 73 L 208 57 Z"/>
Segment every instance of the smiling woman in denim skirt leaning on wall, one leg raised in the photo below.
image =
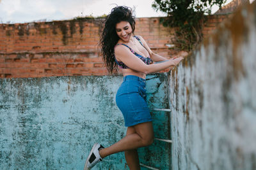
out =
<path fill-rule="evenodd" d="M 154 140 L 152 117 L 145 99 L 146 74 L 155 73 L 179 64 L 183 57 L 166 60 L 152 52 L 141 36 L 134 36 L 135 18 L 126 6 L 117 6 L 106 17 L 100 38 L 104 63 L 110 73 L 119 66 L 124 81 L 116 93 L 116 104 L 124 115 L 126 136 L 104 148 L 95 143 L 84 169 L 91 169 L 104 157 L 125 152 L 131 170 L 140 169 L 137 148 L 148 146 Z M 158 64 L 153 62 L 164 61 Z"/>

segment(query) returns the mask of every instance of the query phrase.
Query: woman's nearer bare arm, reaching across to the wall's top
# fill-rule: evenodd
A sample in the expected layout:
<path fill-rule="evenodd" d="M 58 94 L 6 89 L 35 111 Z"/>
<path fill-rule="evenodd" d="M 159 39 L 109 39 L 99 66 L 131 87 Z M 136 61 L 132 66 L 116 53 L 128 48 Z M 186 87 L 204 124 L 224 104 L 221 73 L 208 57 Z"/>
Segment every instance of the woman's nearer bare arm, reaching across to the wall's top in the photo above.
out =
<path fill-rule="evenodd" d="M 116 46 L 115 56 L 117 60 L 124 62 L 124 64 L 130 69 L 145 74 L 156 73 L 168 67 L 177 66 L 177 64 L 179 64 L 179 62 L 184 59 L 183 57 L 178 57 L 177 59 L 167 60 L 166 62 L 147 65 L 141 59 L 136 57 L 136 55 L 131 53 L 129 48 L 122 45 Z"/>

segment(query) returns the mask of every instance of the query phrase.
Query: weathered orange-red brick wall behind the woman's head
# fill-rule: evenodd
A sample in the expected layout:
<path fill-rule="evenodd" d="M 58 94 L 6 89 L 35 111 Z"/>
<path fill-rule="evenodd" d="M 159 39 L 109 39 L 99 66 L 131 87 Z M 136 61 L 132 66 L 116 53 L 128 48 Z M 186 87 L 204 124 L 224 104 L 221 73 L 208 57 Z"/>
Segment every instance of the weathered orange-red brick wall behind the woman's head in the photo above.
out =
<path fill-rule="evenodd" d="M 204 34 L 224 18 L 227 16 L 211 16 Z M 97 48 L 101 30 L 99 19 L 0 24 L 0 78 L 106 75 Z M 166 58 L 177 55 L 166 46 L 172 44 L 172 33 L 159 18 L 136 20 L 135 34 Z"/>

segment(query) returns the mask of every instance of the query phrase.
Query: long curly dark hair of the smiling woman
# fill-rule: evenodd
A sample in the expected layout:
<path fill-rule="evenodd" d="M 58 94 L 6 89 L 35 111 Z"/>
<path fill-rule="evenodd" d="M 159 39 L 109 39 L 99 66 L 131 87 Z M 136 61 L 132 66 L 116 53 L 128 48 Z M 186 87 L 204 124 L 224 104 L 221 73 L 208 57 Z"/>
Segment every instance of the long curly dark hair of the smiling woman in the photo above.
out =
<path fill-rule="evenodd" d="M 100 48 L 102 51 L 102 59 L 108 72 L 113 74 L 117 72 L 117 64 L 115 62 L 114 47 L 119 40 L 116 34 L 116 24 L 127 21 L 131 24 L 132 34 L 135 30 L 135 17 L 132 15 L 131 8 L 127 6 L 116 6 L 104 20 L 104 29 L 100 36 Z"/>

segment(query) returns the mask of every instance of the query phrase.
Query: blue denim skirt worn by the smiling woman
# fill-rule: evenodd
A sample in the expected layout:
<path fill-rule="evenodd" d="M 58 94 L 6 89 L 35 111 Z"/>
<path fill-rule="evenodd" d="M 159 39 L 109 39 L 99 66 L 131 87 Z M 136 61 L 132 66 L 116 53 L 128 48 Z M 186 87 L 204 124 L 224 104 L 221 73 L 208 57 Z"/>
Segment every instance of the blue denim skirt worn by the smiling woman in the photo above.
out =
<path fill-rule="evenodd" d="M 116 93 L 116 105 L 122 111 L 125 127 L 153 120 L 146 103 L 145 81 L 138 76 L 124 76 Z"/>

